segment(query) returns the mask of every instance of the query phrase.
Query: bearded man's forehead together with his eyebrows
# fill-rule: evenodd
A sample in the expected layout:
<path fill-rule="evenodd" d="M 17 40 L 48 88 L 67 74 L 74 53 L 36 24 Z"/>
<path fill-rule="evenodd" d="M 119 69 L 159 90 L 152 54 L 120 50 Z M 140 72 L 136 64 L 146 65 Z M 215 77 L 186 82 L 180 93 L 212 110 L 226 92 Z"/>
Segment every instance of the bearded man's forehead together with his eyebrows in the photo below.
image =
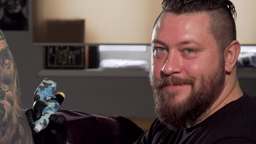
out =
<path fill-rule="evenodd" d="M 210 32 L 210 15 L 208 13 L 174 14 L 164 13 L 155 24 L 151 44 L 164 46 L 215 47 L 216 41 Z M 161 43 L 159 43 L 161 42 Z"/>

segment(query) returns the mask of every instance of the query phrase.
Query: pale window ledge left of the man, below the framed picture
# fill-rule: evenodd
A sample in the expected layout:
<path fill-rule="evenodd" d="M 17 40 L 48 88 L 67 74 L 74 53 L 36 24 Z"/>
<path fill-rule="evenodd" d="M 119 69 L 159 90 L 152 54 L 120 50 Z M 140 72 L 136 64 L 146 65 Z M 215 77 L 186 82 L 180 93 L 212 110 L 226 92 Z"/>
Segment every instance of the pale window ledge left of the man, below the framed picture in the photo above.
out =
<path fill-rule="evenodd" d="M 43 69 L 39 76 L 114 76 L 114 77 L 148 77 L 149 72 L 143 69 Z"/>

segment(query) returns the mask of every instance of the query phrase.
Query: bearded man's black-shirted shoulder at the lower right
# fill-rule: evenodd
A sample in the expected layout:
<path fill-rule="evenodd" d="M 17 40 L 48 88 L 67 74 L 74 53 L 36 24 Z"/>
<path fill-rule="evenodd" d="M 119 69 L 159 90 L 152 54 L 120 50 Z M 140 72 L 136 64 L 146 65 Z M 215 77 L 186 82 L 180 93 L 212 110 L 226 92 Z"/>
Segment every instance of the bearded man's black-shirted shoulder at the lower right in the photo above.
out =
<path fill-rule="evenodd" d="M 203 144 L 222 143 L 222 141 L 240 140 L 256 141 L 256 103 L 243 95 L 236 101 L 225 105 L 211 115 L 206 121 L 197 125 L 196 131 L 202 137 Z"/>

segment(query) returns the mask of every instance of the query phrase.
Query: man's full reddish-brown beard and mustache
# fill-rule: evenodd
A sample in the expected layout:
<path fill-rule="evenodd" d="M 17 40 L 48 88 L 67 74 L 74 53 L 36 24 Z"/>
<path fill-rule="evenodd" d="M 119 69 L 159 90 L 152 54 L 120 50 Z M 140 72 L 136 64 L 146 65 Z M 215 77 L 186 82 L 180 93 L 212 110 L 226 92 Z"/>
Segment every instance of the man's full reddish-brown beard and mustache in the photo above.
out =
<path fill-rule="evenodd" d="M 202 75 L 202 81 L 198 88 L 194 85 L 194 79 L 183 79 L 175 75 L 154 80 L 152 73 L 150 73 L 149 78 L 158 119 L 168 128 L 174 130 L 188 128 L 196 124 L 197 120 L 211 107 L 223 91 L 225 81 L 224 62 L 221 61 L 218 68 L 209 75 Z M 178 92 L 171 90 L 164 98 L 160 90 L 163 86 L 169 84 L 190 85 L 191 92 L 184 100 L 174 103 Z"/>

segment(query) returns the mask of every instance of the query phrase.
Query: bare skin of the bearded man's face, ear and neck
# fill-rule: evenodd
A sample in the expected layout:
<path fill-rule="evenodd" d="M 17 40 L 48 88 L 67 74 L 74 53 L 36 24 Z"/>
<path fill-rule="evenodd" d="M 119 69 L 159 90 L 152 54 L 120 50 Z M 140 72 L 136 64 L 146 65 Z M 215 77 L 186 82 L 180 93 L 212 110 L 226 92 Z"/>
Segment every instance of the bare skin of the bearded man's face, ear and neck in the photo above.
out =
<path fill-rule="evenodd" d="M 156 23 L 152 34 L 151 73 L 155 80 L 176 75 L 184 79 L 194 79 L 195 89 L 199 88 L 202 77 L 210 75 L 220 65 L 220 51 L 210 32 L 208 13 L 176 15 L 166 12 Z M 236 60 L 240 44 L 233 40 L 227 46 L 224 56 L 225 82 L 223 91 L 214 101 L 202 121 L 227 103 L 243 95 L 236 76 Z M 164 72 L 161 72 L 163 68 Z M 168 101 L 168 94 L 176 92 Z M 163 97 L 170 105 L 182 103 L 191 92 L 191 85 L 167 85 L 161 88 Z"/>

